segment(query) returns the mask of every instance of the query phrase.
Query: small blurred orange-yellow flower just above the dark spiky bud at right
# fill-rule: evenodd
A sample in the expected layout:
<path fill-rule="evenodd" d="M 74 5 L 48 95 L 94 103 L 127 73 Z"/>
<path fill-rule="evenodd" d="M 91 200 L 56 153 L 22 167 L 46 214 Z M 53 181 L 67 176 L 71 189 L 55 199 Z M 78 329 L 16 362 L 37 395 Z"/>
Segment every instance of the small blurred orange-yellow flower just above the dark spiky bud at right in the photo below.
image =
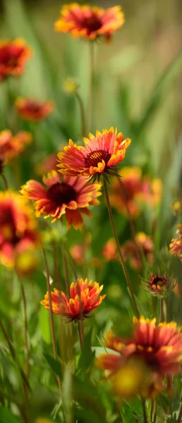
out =
<path fill-rule="evenodd" d="M 150 236 L 146 235 L 144 232 L 138 232 L 135 235 L 135 242 L 133 240 L 126 241 L 126 243 L 122 245 L 121 250 L 123 252 L 123 258 L 125 260 L 129 260 L 130 265 L 134 270 L 141 269 L 142 263 L 139 259 L 140 252 L 145 257 L 148 265 L 153 263 L 153 241 L 152 238 L 150 238 Z"/>

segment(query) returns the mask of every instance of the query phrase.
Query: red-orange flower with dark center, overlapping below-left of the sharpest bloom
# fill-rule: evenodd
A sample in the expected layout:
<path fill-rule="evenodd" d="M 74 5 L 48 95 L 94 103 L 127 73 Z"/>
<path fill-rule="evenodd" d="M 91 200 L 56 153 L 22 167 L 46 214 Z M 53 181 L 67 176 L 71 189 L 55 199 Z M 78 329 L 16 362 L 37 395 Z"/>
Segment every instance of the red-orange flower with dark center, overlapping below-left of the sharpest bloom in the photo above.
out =
<path fill-rule="evenodd" d="M 43 176 L 48 190 L 36 180 L 28 180 L 21 188 L 21 194 L 35 201 L 36 216 L 44 214 L 44 219 L 52 216 L 51 223 L 65 214 L 68 228 L 83 226 L 82 214 L 92 216 L 87 209 L 91 204 L 99 204 L 97 197 L 101 195 L 99 183 L 87 183 L 87 178 L 63 176 L 59 179 L 56 171 Z"/>

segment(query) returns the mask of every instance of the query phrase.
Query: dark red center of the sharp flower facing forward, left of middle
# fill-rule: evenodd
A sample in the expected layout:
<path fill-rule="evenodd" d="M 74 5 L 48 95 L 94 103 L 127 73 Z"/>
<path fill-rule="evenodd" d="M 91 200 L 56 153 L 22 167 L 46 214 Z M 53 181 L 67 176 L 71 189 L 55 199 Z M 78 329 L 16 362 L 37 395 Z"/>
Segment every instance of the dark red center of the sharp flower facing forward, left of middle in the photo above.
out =
<path fill-rule="evenodd" d="M 47 190 L 47 198 L 57 206 L 61 206 L 62 204 L 68 204 L 71 201 L 75 201 L 77 192 L 71 185 L 65 182 L 57 182 Z"/>

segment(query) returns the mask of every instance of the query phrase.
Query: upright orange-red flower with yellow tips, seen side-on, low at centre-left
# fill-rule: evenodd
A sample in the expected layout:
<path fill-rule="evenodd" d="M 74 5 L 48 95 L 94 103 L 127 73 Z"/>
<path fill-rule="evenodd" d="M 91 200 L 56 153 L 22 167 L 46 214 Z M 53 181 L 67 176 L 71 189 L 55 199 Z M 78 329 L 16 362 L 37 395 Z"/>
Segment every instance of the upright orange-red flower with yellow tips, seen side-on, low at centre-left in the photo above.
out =
<path fill-rule="evenodd" d="M 103 285 L 90 281 L 87 283 L 83 279 L 77 279 L 76 283 L 71 283 L 70 298 L 66 297 L 65 293 L 54 288 L 54 293 L 51 292 L 51 308 L 54 314 L 61 314 L 66 317 L 68 321 L 81 320 L 89 317 L 90 312 L 97 308 L 106 295 L 100 295 Z M 98 298 L 99 297 L 99 298 Z M 46 309 L 49 310 L 48 293 L 44 296 L 44 300 L 40 302 Z"/>

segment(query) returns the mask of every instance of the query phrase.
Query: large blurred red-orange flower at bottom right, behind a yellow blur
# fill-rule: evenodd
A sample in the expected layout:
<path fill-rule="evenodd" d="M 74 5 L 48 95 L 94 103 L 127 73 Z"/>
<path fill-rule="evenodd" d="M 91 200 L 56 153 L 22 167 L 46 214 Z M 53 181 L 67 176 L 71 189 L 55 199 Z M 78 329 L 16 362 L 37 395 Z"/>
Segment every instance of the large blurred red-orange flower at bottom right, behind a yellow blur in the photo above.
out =
<path fill-rule="evenodd" d="M 165 376 L 180 374 L 182 362 L 181 329 L 176 329 L 176 323 L 160 323 L 156 319 L 133 318 L 133 333 L 131 338 L 115 337 L 107 333 L 104 345 L 114 354 L 102 354 L 97 358 L 97 365 L 114 375 L 128 363 L 128 360 L 141 360 L 150 371 L 146 389 L 142 396 L 151 397 L 164 390 Z"/>

